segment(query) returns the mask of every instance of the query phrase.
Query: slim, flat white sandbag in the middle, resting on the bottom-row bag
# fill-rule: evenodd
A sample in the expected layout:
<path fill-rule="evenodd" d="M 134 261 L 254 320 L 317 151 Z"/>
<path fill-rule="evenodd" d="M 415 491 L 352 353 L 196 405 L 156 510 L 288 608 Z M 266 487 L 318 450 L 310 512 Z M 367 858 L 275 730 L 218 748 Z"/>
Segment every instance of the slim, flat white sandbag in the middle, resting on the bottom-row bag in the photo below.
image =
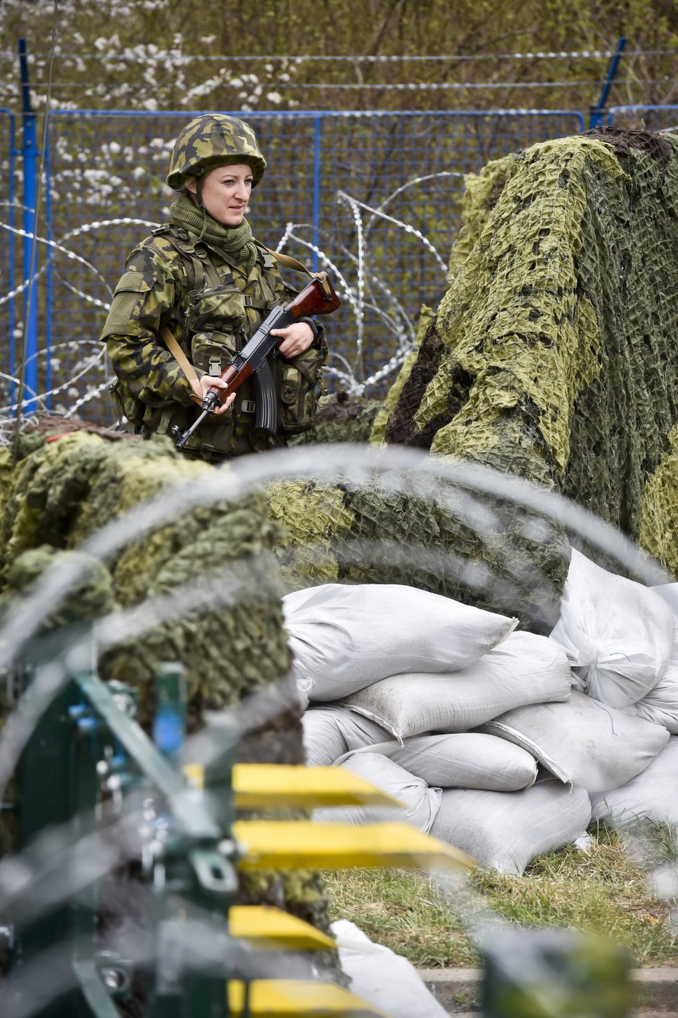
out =
<path fill-rule="evenodd" d="M 383 742 L 354 754 L 381 753 L 428 785 L 517 792 L 536 781 L 536 760 L 526 749 L 494 735 L 414 735 Z M 350 755 L 353 755 L 350 754 Z M 343 764 L 348 756 L 339 757 Z"/>

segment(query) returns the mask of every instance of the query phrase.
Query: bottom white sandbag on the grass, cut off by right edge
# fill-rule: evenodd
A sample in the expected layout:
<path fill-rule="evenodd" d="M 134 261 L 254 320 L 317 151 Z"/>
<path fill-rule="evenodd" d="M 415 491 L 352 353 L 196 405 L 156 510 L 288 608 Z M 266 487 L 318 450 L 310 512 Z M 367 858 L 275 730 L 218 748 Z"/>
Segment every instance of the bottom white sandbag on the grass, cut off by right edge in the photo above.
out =
<path fill-rule="evenodd" d="M 671 738 L 648 768 L 611 792 L 591 796 L 592 819 L 609 816 L 625 827 L 643 817 L 678 825 L 678 738 Z"/>

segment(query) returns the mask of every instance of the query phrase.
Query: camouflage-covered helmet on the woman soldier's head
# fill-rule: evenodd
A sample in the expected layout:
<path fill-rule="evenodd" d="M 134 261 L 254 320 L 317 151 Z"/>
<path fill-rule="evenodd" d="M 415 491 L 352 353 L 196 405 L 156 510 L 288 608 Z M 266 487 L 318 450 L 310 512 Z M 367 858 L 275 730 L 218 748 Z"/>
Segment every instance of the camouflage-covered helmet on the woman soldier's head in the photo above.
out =
<path fill-rule="evenodd" d="M 264 176 L 266 160 L 255 132 L 244 120 L 223 113 L 204 113 L 183 127 L 174 143 L 167 183 L 180 190 L 186 177 L 200 177 L 215 166 L 246 163 L 251 166 L 252 187 Z"/>

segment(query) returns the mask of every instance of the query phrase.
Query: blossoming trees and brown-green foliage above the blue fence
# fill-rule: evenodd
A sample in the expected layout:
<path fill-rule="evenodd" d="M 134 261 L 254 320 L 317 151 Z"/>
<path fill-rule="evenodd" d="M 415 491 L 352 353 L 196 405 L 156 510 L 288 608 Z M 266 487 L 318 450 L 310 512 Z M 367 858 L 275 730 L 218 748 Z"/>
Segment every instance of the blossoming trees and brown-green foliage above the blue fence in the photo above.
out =
<path fill-rule="evenodd" d="M 3 3 L 0 23 L 7 48 L 2 54 L 5 66 L 0 69 L 1 105 L 10 105 L 16 92 L 14 41 L 18 37 L 25 37 L 30 52 L 38 55 L 34 71 L 44 82 L 52 10 L 48 0 Z M 55 95 L 62 108 L 72 104 L 244 110 L 280 104 L 281 108 L 303 109 L 397 109 L 423 103 L 423 108 L 439 109 L 585 109 L 600 94 L 605 58 L 497 61 L 494 56 L 512 51 L 608 50 L 614 49 L 622 35 L 633 49 L 674 48 L 678 42 L 674 5 L 663 0 L 600 0 L 596 4 L 526 0 L 499 5 L 490 0 L 460 0 L 451 17 L 447 0 L 369 0 L 357 6 L 347 0 L 331 4 L 241 0 L 227 8 L 220 0 L 201 0 L 200 5 L 189 3 L 188 9 L 185 0 L 145 4 L 113 0 L 104 6 L 79 0 L 59 6 Z M 286 59 L 242 64 L 238 56 L 245 50 Z M 93 53 L 97 59 L 80 56 Z M 488 58 L 404 64 L 376 61 L 354 66 L 297 59 L 297 54 Z M 227 59 L 186 61 L 188 55 L 226 55 Z M 613 90 L 613 102 L 671 101 L 675 89 L 672 61 L 670 55 L 661 53 L 626 61 Z M 472 86 L 481 81 L 500 87 L 478 92 Z M 555 89 L 519 88 L 530 81 L 564 83 Z M 459 88 L 405 93 L 406 104 L 402 92 L 373 88 L 394 82 Z M 336 83 L 357 88 L 323 88 Z M 270 99 L 271 95 L 275 98 Z"/>

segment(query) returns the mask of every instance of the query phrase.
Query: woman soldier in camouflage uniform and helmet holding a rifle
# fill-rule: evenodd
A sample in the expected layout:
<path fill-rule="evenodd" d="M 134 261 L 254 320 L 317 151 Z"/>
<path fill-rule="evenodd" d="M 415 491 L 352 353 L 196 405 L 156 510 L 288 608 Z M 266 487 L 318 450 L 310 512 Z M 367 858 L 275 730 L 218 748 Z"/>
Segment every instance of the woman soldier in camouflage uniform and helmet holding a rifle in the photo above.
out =
<path fill-rule="evenodd" d="M 234 354 L 271 308 L 294 294 L 276 266 L 294 260 L 268 251 L 244 218 L 265 169 L 251 127 L 235 117 L 204 114 L 179 132 L 167 177 L 179 191 L 171 222 L 129 256 L 101 336 L 123 414 L 146 437 L 188 428 L 207 392 L 224 388 L 219 375 Z M 184 450 L 189 456 L 218 462 L 312 427 L 323 328 L 301 319 L 272 335 L 280 337 L 271 364 L 275 434 L 255 426 L 250 380 L 199 427 Z"/>

